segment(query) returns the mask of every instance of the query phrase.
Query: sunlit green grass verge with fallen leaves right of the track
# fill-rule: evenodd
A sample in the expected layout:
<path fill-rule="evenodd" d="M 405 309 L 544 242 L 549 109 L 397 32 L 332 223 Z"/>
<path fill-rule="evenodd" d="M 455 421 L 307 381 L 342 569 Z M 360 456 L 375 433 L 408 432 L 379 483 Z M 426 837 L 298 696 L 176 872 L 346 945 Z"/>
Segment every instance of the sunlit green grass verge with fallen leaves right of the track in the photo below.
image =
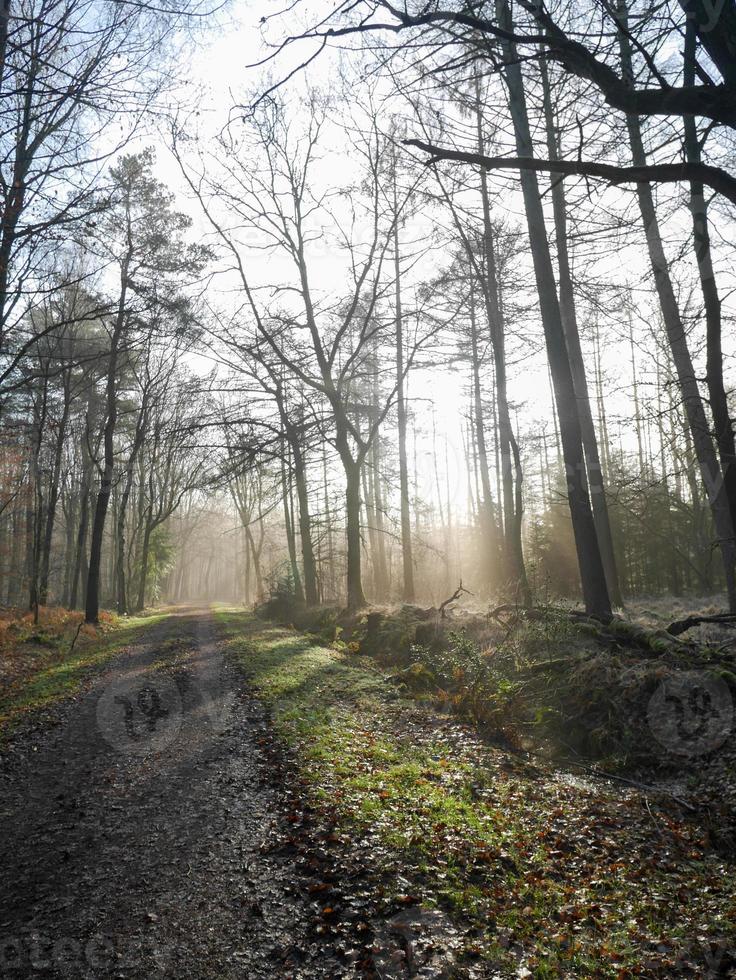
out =
<path fill-rule="evenodd" d="M 370 658 L 242 611 L 215 618 L 312 802 L 423 903 L 469 920 L 482 957 L 515 970 L 522 955 L 540 978 L 668 976 L 734 939 L 733 876 L 696 827 L 438 729 Z"/>

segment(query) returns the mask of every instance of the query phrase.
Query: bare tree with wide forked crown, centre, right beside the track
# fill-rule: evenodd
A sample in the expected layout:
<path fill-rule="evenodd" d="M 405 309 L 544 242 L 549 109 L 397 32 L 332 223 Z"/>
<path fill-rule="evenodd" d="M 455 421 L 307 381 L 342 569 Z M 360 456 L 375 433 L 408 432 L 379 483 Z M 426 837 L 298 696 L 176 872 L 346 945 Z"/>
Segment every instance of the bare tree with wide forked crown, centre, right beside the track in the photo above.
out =
<path fill-rule="evenodd" d="M 307 122 L 297 131 L 283 108 L 273 103 L 251 123 L 249 156 L 243 158 L 240 137 L 223 137 L 219 157 L 225 173 L 218 180 L 207 177 L 203 168 L 196 175 L 181 154 L 181 134 L 175 152 L 189 185 L 197 195 L 219 241 L 232 256 L 243 289 L 252 330 L 283 367 L 288 378 L 311 390 L 329 410 L 331 434 L 345 473 L 347 539 L 347 602 L 350 608 L 365 603 L 361 577 L 360 490 L 361 469 L 373 439 L 391 410 L 397 384 L 384 396 L 378 412 L 361 403 L 360 378 L 366 371 L 376 344 L 387 336 L 388 323 L 379 315 L 380 301 L 390 290 L 384 265 L 393 241 L 395 215 L 384 202 L 381 185 L 388 165 L 387 146 L 379 137 L 375 120 L 366 134 L 357 137 L 356 155 L 364 167 L 365 194 L 355 195 L 347 226 L 336 221 L 340 247 L 348 256 L 347 282 L 337 295 L 322 298 L 312 285 L 310 246 L 325 240 L 324 230 L 313 227 L 312 219 L 330 214 L 330 191 L 320 191 L 311 177 L 319 153 L 319 136 L 328 122 L 328 107 L 315 98 L 304 106 Z M 353 137 L 355 138 L 355 137 Z M 227 209 L 220 218 L 213 205 L 217 195 Z M 351 239 L 358 217 L 367 229 L 367 240 Z M 227 221 L 227 223 L 225 223 Z M 334 218 L 333 218 L 334 221 Z M 251 260 L 239 239 L 244 228 L 257 228 L 263 247 L 288 259 L 292 278 L 284 286 L 272 286 L 275 305 L 257 299 L 260 283 L 251 272 Z M 335 246 L 333 246 L 335 247 Z M 293 300 L 286 305 L 283 297 Z M 305 336 L 306 339 L 302 340 Z M 415 339 L 404 363 L 410 369 L 413 352 L 421 345 Z M 367 420 L 364 431 L 359 416 Z"/>

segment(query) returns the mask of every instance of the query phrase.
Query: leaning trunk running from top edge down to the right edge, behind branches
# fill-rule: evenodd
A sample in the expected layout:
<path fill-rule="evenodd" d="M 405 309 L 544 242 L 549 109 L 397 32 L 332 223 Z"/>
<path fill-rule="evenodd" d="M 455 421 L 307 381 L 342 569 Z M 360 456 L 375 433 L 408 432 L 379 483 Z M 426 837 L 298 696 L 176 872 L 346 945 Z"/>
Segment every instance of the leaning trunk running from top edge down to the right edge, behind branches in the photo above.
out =
<path fill-rule="evenodd" d="M 628 8 L 625 0 L 619 0 L 618 18 L 621 25 L 619 31 L 619 50 L 624 78 L 633 84 L 633 63 L 631 45 L 628 38 Z M 634 166 L 645 166 L 647 163 L 644 141 L 642 139 L 641 122 L 638 116 L 626 117 L 631 143 L 631 158 Z M 664 319 L 665 330 L 670 344 L 672 360 L 677 372 L 677 380 L 685 406 L 693 450 L 698 462 L 698 468 L 703 480 L 706 496 L 710 504 L 713 524 L 718 539 L 718 547 L 723 561 L 729 608 L 736 612 L 736 540 L 734 539 L 734 524 L 731 520 L 726 486 L 723 480 L 718 459 L 716 457 L 708 422 L 703 406 L 703 400 L 698 388 L 697 376 L 693 367 L 688 348 L 685 326 L 680 317 L 677 298 L 672 286 L 669 263 L 662 244 L 659 221 L 654 207 L 654 197 L 651 184 L 638 183 L 636 193 L 639 201 L 644 231 L 646 235 L 649 261 L 654 274 L 654 282 L 659 297 L 659 303 Z"/>

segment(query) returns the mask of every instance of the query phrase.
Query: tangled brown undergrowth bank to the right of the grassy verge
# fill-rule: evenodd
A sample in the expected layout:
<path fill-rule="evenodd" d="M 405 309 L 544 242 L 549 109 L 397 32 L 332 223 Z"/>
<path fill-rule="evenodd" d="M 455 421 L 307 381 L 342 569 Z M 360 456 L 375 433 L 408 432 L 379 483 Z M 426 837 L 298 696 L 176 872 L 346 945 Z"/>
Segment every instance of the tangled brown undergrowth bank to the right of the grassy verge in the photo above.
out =
<path fill-rule="evenodd" d="M 698 672 L 724 698 L 736 696 L 730 655 L 624 620 L 604 626 L 553 608 L 495 620 L 441 619 L 414 606 L 353 616 L 336 608 L 278 612 L 316 643 L 393 668 L 397 688 L 485 735 L 617 772 L 681 767 L 651 729 L 649 708 L 664 683 Z"/>

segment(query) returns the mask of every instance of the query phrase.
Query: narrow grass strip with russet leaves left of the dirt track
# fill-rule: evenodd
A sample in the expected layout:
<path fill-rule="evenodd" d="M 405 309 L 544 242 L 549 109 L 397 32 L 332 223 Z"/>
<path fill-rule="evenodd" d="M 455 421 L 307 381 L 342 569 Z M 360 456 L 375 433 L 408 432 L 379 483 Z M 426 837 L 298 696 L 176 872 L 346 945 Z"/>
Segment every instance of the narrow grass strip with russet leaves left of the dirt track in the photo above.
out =
<path fill-rule="evenodd" d="M 77 694 L 94 670 L 165 615 L 115 618 L 105 632 L 94 636 L 81 633 L 71 653 L 67 652 L 71 645 L 69 630 L 59 634 L 42 632 L 46 641 L 43 643 L 38 642 L 37 632 L 32 634 L 28 640 L 32 645 L 29 669 L 0 696 L 0 747 L 19 725 Z"/>

